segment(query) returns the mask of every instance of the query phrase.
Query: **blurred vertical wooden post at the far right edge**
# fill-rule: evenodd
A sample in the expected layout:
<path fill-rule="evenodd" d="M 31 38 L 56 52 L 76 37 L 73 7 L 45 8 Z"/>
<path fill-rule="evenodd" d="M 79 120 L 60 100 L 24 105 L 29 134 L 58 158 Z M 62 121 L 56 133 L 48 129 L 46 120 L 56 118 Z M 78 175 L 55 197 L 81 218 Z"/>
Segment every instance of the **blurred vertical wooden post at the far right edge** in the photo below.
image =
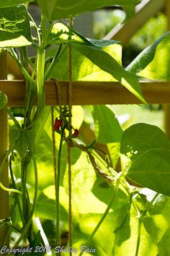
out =
<path fill-rule="evenodd" d="M 168 22 L 167 30 L 170 30 L 170 0 L 165 0 L 164 13 L 166 14 Z M 166 136 L 170 140 L 170 104 L 164 105 L 164 127 Z"/>

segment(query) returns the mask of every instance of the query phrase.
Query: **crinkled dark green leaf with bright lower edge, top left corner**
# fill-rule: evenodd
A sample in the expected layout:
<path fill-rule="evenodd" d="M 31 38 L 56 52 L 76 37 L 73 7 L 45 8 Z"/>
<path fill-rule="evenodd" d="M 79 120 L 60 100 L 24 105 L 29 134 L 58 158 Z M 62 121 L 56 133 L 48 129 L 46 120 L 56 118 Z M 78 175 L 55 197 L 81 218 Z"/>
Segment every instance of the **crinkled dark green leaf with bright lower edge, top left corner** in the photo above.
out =
<path fill-rule="evenodd" d="M 31 41 L 30 22 L 24 4 L 1 8 L 0 47 L 29 46 Z"/>

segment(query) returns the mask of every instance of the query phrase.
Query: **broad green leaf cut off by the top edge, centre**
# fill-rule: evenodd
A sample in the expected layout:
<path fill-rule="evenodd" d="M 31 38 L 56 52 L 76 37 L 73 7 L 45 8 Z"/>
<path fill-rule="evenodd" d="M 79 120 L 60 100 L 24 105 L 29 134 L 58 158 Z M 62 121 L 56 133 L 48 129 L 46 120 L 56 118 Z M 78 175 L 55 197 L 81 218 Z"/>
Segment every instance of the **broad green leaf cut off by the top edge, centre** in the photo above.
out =
<path fill-rule="evenodd" d="M 140 4 L 140 0 L 91 0 L 91 1 L 63 1 L 63 0 L 37 0 L 42 13 L 48 17 L 48 20 L 58 20 L 61 18 L 73 17 L 84 12 L 93 12 L 96 9 L 111 5 L 120 5 L 127 12 L 126 20 L 133 17 L 135 5 Z"/>

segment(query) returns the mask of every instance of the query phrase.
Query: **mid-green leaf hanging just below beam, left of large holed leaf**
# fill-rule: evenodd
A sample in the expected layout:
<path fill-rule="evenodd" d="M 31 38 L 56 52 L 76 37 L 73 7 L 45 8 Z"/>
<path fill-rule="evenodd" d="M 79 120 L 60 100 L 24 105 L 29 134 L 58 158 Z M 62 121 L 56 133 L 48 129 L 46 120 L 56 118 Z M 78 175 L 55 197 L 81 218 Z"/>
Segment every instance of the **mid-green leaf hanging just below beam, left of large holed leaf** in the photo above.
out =
<path fill-rule="evenodd" d="M 95 135 L 99 142 L 120 142 L 122 127 L 120 127 L 112 108 L 109 108 L 109 106 L 92 106 L 92 116 L 94 118 Z"/>

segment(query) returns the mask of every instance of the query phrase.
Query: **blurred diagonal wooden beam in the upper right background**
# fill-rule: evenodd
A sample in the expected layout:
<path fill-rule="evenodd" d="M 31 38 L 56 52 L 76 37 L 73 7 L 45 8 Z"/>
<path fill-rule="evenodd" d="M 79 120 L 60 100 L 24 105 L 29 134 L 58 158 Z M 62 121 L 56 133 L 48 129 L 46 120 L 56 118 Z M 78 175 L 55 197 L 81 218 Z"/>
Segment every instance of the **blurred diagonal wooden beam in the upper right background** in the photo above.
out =
<path fill-rule="evenodd" d="M 120 40 L 122 45 L 128 43 L 128 40 L 138 31 L 138 29 L 153 17 L 154 14 L 164 8 L 164 0 L 143 0 L 137 6 L 135 17 L 128 23 L 114 27 L 104 39 Z"/>

